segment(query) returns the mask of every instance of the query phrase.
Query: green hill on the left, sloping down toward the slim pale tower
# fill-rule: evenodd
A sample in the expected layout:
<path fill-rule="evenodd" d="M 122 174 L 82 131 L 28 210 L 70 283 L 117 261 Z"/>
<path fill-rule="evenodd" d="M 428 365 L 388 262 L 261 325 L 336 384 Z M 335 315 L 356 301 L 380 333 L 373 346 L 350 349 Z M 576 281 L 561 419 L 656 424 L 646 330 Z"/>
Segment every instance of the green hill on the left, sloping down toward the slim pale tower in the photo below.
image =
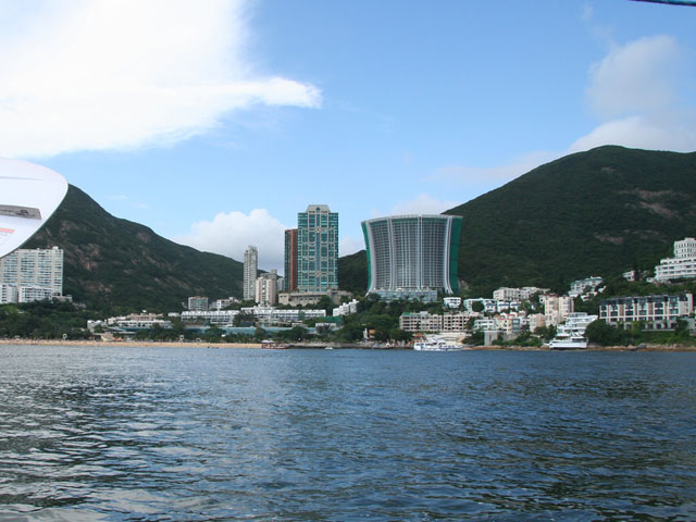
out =
<path fill-rule="evenodd" d="M 240 262 L 114 217 L 74 186 L 24 248 L 52 246 L 64 250 L 63 293 L 90 307 L 171 311 L 188 296 L 241 295 Z"/>

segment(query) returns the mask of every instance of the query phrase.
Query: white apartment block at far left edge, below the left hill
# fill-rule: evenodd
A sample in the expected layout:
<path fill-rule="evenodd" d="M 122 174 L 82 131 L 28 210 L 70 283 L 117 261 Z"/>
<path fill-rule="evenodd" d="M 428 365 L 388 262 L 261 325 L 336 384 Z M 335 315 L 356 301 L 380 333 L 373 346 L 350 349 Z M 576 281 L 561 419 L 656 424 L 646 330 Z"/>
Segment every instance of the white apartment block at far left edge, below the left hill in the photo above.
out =
<path fill-rule="evenodd" d="M 0 296 L 0 302 L 29 302 L 61 296 L 63 294 L 63 250 L 58 247 L 21 248 L 0 258 L 0 288 L 4 286 L 13 287 L 16 291 L 5 288 Z M 23 288 L 25 288 L 24 291 Z"/>

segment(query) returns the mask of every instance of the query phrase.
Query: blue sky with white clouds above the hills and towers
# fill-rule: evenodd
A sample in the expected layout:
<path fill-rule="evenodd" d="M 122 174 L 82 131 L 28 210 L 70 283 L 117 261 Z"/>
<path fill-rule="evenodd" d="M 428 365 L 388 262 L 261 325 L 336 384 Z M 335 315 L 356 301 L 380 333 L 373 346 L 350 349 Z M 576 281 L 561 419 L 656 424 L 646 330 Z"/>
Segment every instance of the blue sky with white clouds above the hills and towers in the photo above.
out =
<path fill-rule="evenodd" d="M 0 0 L 0 157 L 283 272 L 309 204 L 439 213 L 601 145 L 696 150 L 696 9 L 630 0 Z"/>

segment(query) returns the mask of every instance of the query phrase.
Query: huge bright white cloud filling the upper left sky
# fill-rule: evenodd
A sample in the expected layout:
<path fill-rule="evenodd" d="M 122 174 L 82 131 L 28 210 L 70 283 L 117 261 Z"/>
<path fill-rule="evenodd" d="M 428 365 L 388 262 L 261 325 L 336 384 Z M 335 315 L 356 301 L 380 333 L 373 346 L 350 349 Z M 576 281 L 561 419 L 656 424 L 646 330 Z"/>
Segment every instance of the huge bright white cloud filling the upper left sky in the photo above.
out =
<path fill-rule="evenodd" d="M 259 74 L 243 0 L 0 0 L 0 156 L 160 145 L 256 104 L 318 107 Z"/>

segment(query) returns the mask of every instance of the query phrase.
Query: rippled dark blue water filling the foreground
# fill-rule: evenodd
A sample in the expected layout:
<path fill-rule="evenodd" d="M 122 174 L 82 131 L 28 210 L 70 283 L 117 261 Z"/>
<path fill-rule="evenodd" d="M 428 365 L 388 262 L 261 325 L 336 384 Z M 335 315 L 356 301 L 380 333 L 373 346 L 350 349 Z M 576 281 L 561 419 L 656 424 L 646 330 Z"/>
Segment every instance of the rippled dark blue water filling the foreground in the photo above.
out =
<path fill-rule="evenodd" d="M 0 357 L 2 521 L 696 519 L 696 353 Z"/>

